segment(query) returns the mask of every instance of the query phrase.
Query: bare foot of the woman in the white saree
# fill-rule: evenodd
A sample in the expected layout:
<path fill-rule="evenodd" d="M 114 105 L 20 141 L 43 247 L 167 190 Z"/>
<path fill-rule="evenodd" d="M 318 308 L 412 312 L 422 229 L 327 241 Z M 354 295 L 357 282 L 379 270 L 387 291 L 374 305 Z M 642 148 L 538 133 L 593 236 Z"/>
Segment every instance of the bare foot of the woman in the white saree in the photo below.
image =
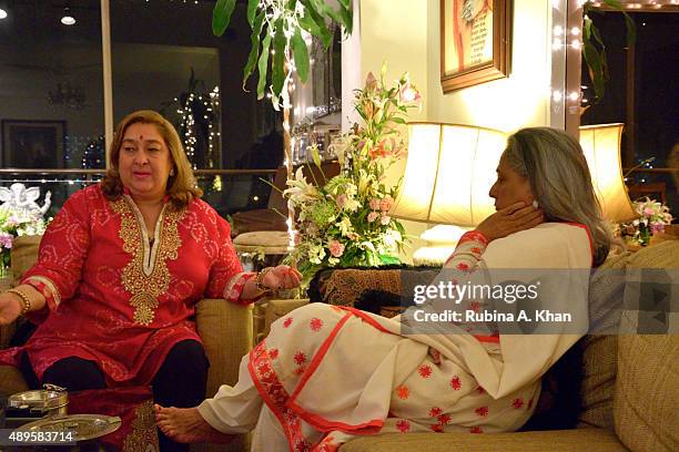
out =
<path fill-rule="evenodd" d="M 197 408 L 165 408 L 156 404 L 154 410 L 158 428 L 173 441 L 227 443 L 235 438 L 212 428 Z"/>

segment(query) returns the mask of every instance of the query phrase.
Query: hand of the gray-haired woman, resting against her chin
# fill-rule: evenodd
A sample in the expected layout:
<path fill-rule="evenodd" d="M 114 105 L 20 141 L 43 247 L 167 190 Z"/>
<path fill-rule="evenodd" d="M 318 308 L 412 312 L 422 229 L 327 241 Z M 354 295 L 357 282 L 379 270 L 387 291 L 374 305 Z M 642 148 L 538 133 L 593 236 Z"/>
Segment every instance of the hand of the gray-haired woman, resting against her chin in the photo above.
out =
<path fill-rule="evenodd" d="M 476 230 L 482 233 L 488 242 L 503 238 L 519 230 L 530 229 L 540 223 L 545 223 L 543 210 L 533 205 L 526 206 L 519 202 L 497 210 L 488 218 L 484 219 Z"/>

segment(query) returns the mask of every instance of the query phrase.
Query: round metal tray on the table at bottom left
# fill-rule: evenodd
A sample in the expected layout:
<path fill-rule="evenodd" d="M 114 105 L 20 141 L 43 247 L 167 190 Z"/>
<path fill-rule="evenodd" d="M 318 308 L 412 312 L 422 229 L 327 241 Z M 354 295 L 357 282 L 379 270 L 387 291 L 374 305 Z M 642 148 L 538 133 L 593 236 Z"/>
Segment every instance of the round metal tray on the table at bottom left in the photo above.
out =
<path fill-rule="evenodd" d="M 112 433 L 120 428 L 120 424 L 121 420 L 118 417 L 67 414 L 44 418 L 21 425 L 17 430 L 28 432 L 72 432 L 73 441 L 87 441 Z"/>

